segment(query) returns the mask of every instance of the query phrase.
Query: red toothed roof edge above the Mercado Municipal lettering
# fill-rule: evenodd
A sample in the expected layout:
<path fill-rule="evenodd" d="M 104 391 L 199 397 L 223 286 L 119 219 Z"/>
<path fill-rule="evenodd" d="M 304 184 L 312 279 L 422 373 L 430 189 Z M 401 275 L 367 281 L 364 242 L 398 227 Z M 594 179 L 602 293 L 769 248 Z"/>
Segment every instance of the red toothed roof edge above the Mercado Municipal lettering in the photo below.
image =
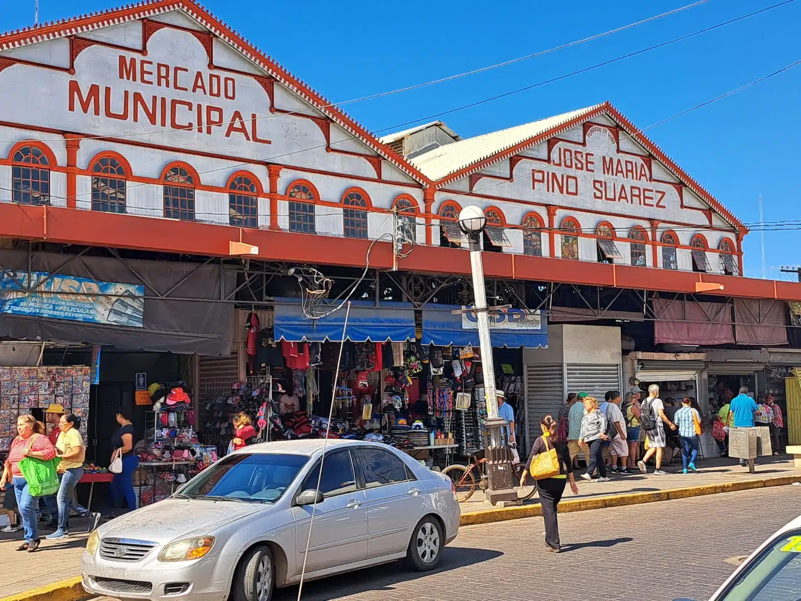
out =
<path fill-rule="evenodd" d="M 192 0 L 144 0 L 137 4 L 102 10 L 96 13 L 83 14 L 79 17 L 61 19 L 56 22 L 46 22 L 39 25 L 26 27 L 20 30 L 5 32 L 0 35 L 0 50 L 10 50 L 20 46 L 27 46 L 37 42 L 66 38 L 83 32 L 99 30 L 103 27 L 119 25 L 125 22 L 136 21 L 142 18 L 153 17 L 157 14 L 164 14 L 174 10 L 181 10 L 200 25 L 207 28 L 211 33 L 234 47 L 239 53 L 255 63 L 256 66 L 264 69 L 268 75 L 276 79 L 277 82 L 287 87 L 288 90 L 300 96 L 307 103 L 320 111 L 323 115 L 332 119 L 334 123 L 348 131 L 355 139 L 364 143 L 372 151 L 388 160 L 395 167 L 409 175 L 412 179 L 421 184 L 430 184 L 429 179 L 414 167 L 408 160 L 376 138 L 366 127 L 356 122 L 344 111 L 335 107 L 308 86 L 307 83 L 292 75 L 289 71 L 281 67 L 267 54 L 253 46 L 248 40 L 237 34 L 228 27 L 223 21 L 216 18 L 203 6 Z"/>

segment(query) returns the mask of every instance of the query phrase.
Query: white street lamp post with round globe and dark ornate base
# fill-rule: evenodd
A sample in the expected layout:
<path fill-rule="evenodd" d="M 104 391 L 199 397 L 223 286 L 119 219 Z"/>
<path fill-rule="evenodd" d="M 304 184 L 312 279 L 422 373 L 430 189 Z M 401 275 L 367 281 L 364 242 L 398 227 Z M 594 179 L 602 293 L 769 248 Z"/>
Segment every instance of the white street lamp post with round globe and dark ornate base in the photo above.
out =
<path fill-rule="evenodd" d="M 517 501 L 514 490 L 514 472 L 506 447 L 506 422 L 498 417 L 497 393 L 495 391 L 495 369 L 493 346 L 489 340 L 489 311 L 487 306 L 484 264 L 481 260 L 481 232 L 487 227 L 487 218 L 481 208 L 465 207 L 459 213 L 459 228 L 468 238 L 470 269 L 473 272 L 473 296 L 475 296 L 478 323 L 478 341 L 481 346 L 481 365 L 484 370 L 484 391 L 487 401 L 485 420 L 485 458 L 487 472 L 486 498 L 493 505 L 499 501 Z"/>

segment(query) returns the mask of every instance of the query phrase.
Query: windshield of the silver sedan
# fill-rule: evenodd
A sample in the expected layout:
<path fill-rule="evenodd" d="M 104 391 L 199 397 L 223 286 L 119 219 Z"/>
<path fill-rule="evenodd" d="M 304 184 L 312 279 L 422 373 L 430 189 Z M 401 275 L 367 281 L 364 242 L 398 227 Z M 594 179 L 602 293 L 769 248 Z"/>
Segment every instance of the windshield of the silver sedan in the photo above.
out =
<path fill-rule="evenodd" d="M 192 478 L 175 497 L 274 502 L 284 494 L 306 462 L 305 455 L 229 455 Z"/>

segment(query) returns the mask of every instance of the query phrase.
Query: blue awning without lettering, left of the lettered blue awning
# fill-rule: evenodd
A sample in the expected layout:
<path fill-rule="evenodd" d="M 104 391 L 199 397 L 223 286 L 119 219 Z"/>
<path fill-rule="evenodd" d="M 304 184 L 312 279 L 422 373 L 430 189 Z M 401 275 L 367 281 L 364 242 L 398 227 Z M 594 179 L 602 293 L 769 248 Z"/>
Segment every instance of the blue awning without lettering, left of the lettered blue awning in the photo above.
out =
<path fill-rule="evenodd" d="M 304 317 L 300 300 L 276 296 L 275 337 L 290 342 L 324 342 L 342 340 L 347 307 L 320 319 Z M 340 305 L 332 300 L 316 310 L 326 313 Z M 382 302 L 376 306 L 368 300 L 352 300 L 348 329 L 344 337 L 352 342 L 404 342 L 414 340 L 414 309 L 411 303 Z"/>

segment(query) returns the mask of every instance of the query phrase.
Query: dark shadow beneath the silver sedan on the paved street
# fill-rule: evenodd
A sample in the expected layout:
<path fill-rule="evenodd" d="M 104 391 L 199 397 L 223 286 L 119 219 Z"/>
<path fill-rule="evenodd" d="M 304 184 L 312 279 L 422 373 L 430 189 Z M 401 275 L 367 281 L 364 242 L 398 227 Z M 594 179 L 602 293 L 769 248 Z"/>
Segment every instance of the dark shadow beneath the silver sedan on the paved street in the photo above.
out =
<path fill-rule="evenodd" d="M 396 584 L 409 582 L 424 576 L 441 574 L 460 567 L 473 566 L 477 563 L 501 557 L 501 551 L 488 549 L 471 549 L 465 547 L 446 547 L 442 563 L 436 570 L 429 572 L 410 571 L 400 561 L 370 567 L 348 574 L 332 576 L 305 583 L 304 599 L 338 599 L 340 596 L 356 595 L 367 591 L 392 591 Z M 298 587 L 287 587 L 276 591 L 276 601 L 296 599 Z"/>

